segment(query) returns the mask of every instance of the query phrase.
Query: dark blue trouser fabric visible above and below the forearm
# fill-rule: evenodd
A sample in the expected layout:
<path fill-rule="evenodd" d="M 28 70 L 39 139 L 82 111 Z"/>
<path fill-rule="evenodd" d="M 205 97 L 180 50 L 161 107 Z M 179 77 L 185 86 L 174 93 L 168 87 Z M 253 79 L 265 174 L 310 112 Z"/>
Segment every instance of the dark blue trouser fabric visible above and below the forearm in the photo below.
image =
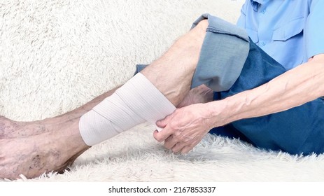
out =
<path fill-rule="evenodd" d="M 286 70 L 252 41 L 241 75 L 230 90 L 220 92 L 220 99 L 267 83 Z M 324 152 L 323 99 L 288 111 L 231 123 L 235 130 L 260 148 L 292 154 Z"/>

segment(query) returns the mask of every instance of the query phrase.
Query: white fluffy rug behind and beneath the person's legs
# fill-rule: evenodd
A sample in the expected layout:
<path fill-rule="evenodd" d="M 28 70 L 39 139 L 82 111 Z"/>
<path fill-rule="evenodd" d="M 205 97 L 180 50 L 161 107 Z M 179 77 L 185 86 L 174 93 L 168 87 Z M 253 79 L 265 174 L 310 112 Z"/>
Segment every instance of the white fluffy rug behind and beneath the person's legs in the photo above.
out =
<path fill-rule="evenodd" d="M 57 116 L 132 76 L 202 13 L 235 22 L 243 1 L 2 0 L 0 115 Z M 170 153 L 148 124 L 94 146 L 64 174 L 19 181 L 323 181 L 324 156 L 262 151 L 207 136 Z"/>

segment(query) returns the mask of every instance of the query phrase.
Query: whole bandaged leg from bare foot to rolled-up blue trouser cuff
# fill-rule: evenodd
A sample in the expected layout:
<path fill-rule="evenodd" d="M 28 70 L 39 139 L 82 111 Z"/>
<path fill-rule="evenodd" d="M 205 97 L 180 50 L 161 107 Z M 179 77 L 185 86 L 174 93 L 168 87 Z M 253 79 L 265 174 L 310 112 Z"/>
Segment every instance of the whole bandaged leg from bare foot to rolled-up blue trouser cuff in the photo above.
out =
<path fill-rule="evenodd" d="M 80 109 L 59 116 L 53 119 L 57 123 L 44 124 L 48 131 L 43 134 L 1 138 L 0 177 L 60 171 L 93 144 L 144 120 L 164 118 L 169 113 L 155 113 L 181 103 L 190 87 L 206 84 L 213 90 L 229 89 L 248 55 L 246 32 L 210 15 L 203 15 L 193 26 L 160 59 L 87 113 Z M 0 129 L 6 132 L 7 127 Z"/>

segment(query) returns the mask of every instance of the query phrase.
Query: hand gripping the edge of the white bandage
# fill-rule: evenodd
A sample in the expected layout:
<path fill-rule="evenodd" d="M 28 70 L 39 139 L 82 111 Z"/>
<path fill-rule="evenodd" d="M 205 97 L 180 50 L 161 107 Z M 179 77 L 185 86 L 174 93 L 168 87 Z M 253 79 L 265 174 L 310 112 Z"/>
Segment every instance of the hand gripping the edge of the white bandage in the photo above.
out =
<path fill-rule="evenodd" d="M 205 104 L 193 104 L 176 109 L 163 120 L 157 121 L 154 138 L 174 153 L 188 153 L 212 128 L 213 120 Z"/>

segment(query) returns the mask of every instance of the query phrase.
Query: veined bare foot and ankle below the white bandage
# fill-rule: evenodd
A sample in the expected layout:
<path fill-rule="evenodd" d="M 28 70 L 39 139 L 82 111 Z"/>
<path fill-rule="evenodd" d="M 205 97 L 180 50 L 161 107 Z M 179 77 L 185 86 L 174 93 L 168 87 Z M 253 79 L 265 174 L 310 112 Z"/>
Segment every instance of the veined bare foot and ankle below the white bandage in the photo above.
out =
<path fill-rule="evenodd" d="M 33 123 L 10 124 L 2 119 L 1 132 L 7 133 L 23 130 L 27 126 L 33 130 Z M 8 125 L 14 125 L 10 127 Z M 0 139 L 0 178 L 17 179 L 20 174 L 34 178 L 47 172 L 62 172 L 89 146 L 84 144 L 78 131 L 78 118 L 62 122 L 59 125 L 42 125 L 35 123 L 34 134 L 24 137 Z M 44 131 L 45 130 L 45 131 Z M 37 134 L 36 134 L 37 133 Z"/>

